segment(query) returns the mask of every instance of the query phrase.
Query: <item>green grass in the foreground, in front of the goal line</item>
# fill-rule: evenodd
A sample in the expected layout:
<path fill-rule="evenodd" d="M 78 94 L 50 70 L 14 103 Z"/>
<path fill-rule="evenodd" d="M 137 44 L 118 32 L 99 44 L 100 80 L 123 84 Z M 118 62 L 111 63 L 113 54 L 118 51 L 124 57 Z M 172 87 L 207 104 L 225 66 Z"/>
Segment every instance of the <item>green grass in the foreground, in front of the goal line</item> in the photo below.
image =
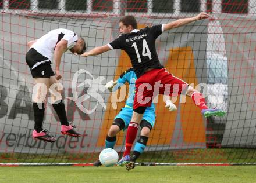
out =
<path fill-rule="evenodd" d="M 256 181 L 256 166 L 0 167 L 0 182 L 237 182 Z"/>

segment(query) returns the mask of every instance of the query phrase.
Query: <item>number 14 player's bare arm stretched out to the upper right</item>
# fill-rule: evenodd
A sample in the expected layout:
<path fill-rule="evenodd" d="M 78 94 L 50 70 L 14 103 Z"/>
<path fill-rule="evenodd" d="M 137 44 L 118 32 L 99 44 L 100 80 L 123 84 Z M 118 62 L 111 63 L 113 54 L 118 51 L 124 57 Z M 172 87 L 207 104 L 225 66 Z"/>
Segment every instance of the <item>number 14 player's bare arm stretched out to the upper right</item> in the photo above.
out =
<path fill-rule="evenodd" d="M 179 19 L 179 20 L 172 21 L 168 24 L 164 24 L 163 25 L 163 30 L 167 31 L 167 30 L 170 30 L 172 28 L 181 27 L 182 25 L 186 25 L 186 24 L 189 24 L 193 21 L 197 21 L 197 20 L 201 20 L 201 19 L 207 19 L 208 17 L 209 17 L 209 14 L 202 12 L 202 13 L 198 14 L 195 17 Z"/>

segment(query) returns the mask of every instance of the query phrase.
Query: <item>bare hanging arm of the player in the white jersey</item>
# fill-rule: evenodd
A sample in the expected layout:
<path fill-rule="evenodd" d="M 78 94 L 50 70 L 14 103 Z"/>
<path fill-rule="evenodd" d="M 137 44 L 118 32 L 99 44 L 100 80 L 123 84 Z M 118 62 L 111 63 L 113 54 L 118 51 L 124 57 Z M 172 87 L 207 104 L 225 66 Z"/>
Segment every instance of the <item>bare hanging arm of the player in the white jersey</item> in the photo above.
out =
<path fill-rule="evenodd" d="M 57 80 L 61 79 L 61 75 L 59 73 L 59 65 L 61 64 L 62 54 L 66 52 L 66 49 L 67 49 L 67 41 L 65 39 L 62 39 L 57 43 L 54 50 L 54 61 L 55 61 L 55 69 L 56 69 L 55 74 L 56 74 Z"/>

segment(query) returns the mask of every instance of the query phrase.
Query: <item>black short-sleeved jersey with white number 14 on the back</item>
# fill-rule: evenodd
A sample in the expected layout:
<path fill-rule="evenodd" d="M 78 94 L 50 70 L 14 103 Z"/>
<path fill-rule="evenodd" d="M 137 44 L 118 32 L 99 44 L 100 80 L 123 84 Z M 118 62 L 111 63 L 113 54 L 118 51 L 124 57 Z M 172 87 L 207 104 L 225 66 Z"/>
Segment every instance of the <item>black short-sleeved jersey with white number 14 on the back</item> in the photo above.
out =
<path fill-rule="evenodd" d="M 129 34 L 122 34 L 108 46 L 113 49 L 122 49 L 129 55 L 137 78 L 148 68 L 163 68 L 157 56 L 155 39 L 163 32 L 163 25 L 145 27 L 133 30 Z"/>

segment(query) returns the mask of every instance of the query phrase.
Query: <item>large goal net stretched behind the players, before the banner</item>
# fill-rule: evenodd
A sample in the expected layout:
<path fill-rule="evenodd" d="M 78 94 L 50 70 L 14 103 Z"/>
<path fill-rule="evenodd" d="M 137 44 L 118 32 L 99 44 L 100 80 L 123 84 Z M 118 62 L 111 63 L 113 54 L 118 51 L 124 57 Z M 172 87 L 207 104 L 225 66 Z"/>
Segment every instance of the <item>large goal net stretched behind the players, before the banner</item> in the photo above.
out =
<path fill-rule="evenodd" d="M 256 163 L 253 0 L 1 0 L 0 163 L 94 162 L 105 148 L 108 129 L 124 107 L 129 90 L 125 85 L 110 93 L 103 87 L 131 67 L 122 50 L 87 58 L 63 54 L 62 99 L 69 122 L 84 137 L 61 134 L 58 116 L 47 99 L 44 127 L 56 142 L 35 141 L 31 137 L 33 78 L 25 61 L 27 42 L 55 28 L 67 28 L 83 37 L 91 50 L 118 37 L 121 16 L 134 15 L 143 28 L 202 11 L 211 17 L 159 36 L 158 58 L 169 72 L 200 90 L 209 107 L 227 114 L 203 118 L 184 96 L 172 98 L 177 111 L 169 112 L 159 96 L 155 126 L 138 163 Z M 84 97 L 82 107 L 70 100 L 76 94 Z M 117 136 L 118 152 L 125 148 L 125 134 L 120 131 Z"/>

